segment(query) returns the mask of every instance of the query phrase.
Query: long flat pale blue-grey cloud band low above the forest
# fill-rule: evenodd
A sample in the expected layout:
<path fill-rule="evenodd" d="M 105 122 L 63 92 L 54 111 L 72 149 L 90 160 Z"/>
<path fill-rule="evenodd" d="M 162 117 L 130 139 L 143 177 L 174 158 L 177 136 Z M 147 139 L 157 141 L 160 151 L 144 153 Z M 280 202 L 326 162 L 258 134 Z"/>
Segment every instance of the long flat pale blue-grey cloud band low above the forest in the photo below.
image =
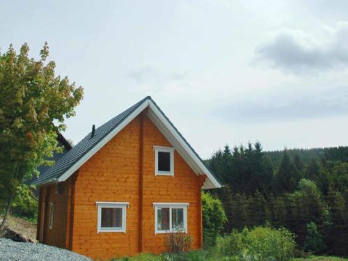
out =
<path fill-rule="evenodd" d="M 226 105 L 219 116 L 228 122 L 264 123 L 310 120 L 348 115 L 348 88 L 317 88 L 313 91 L 272 90 L 240 97 Z"/>

